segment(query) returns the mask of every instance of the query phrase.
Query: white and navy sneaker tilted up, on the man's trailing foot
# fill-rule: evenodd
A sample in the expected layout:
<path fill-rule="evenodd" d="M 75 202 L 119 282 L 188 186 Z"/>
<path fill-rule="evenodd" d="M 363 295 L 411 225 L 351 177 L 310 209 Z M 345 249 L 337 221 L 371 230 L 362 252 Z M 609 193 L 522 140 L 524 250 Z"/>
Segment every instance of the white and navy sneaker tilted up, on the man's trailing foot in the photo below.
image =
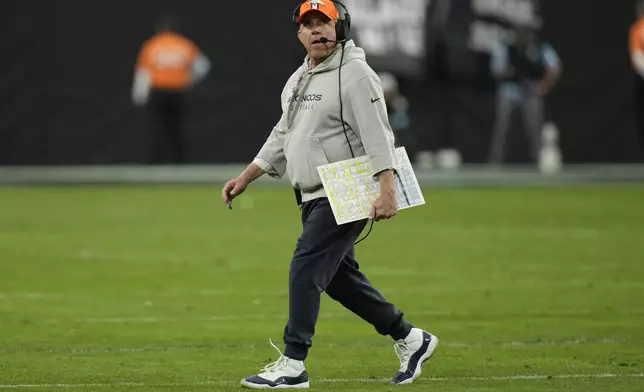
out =
<path fill-rule="evenodd" d="M 392 384 L 411 384 L 422 371 L 422 366 L 438 346 L 438 338 L 422 329 L 412 328 L 405 339 L 394 344 L 400 359 L 400 369 L 391 380 Z"/>

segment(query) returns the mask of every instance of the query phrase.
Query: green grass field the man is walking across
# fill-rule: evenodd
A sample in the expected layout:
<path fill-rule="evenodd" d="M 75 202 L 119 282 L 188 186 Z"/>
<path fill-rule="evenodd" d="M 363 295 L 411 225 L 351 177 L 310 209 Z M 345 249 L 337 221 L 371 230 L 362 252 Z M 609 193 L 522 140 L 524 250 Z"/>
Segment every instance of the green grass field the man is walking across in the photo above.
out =
<path fill-rule="evenodd" d="M 235 391 L 274 361 L 299 235 L 289 189 L 0 189 L 0 389 Z M 644 186 L 425 189 L 361 268 L 440 338 L 393 387 L 390 338 L 328 297 L 318 391 L 644 390 Z"/>

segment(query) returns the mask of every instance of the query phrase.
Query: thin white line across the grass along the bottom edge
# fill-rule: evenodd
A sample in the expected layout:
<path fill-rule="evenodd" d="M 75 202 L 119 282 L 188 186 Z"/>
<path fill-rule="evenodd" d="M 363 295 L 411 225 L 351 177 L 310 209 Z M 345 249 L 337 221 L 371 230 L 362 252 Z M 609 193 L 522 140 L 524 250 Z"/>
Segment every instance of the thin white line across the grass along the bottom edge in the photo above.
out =
<path fill-rule="evenodd" d="M 597 373 L 597 374 L 517 374 L 513 376 L 489 376 L 489 377 L 428 377 L 424 381 L 530 381 L 530 380 L 565 380 L 565 379 L 603 379 L 603 378 L 642 378 L 644 373 L 634 374 L 617 374 L 617 373 Z M 319 379 L 314 383 L 350 383 L 350 382 L 373 382 L 388 383 L 386 378 L 355 378 L 355 379 Z M 90 384 L 0 384 L 0 389 L 18 389 L 18 388 L 108 388 L 108 387 L 198 387 L 198 386 L 223 386 L 236 385 L 239 381 L 222 380 L 222 381 L 202 381 L 193 383 L 144 383 L 144 382 L 115 382 L 115 383 L 90 383 Z"/>

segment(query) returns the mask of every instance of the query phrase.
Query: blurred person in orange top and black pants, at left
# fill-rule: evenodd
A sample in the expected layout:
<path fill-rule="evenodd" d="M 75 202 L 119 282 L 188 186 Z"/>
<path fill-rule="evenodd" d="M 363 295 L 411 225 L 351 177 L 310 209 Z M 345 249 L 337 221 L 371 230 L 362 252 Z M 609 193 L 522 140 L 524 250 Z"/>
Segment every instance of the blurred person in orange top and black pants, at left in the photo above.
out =
<path fill-rule="evenodd" d="M 184 162 L 184 93 L 210 71 L 208 58 L 177 26 L 172 15 L 160 19 L 156 34 L 141 46 L 132 85 L 132 101 L 147 109 L 153 163 Z"/>

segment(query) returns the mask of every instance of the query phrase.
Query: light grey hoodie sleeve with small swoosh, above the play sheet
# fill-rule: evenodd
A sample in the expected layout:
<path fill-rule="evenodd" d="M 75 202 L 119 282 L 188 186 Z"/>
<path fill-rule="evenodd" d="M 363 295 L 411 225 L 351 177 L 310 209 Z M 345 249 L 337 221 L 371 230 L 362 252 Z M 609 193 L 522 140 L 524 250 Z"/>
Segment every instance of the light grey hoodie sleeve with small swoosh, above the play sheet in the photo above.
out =
<path fill-rule="evenodd" d="M 396 170 L 395 138 L 389 124 L 382 86 L 376 76 L 365 76 L 349 87 L 345 120 L 362 141 L 373 174 Z"/>

